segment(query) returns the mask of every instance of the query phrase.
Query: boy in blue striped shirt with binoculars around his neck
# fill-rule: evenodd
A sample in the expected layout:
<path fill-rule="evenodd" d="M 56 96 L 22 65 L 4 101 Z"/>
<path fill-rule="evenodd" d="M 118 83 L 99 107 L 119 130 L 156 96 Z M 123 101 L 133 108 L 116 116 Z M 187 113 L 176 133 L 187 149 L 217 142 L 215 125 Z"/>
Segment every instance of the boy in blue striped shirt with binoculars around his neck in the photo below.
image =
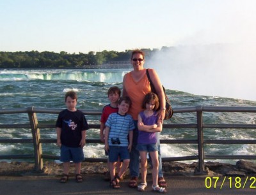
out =
<path fill-rule="evenodd" d="M 132 116 L 127 114 L 131 106 L 131 99 L 122 97 L 117 106 L 118 112 L 111 113 L 105 124 L 105 150 L 108 152 L 111 186 L 114 189 L 120 188 L 120 178 L 123 177 L 129 166 L 129 152 L 131 152 L 132 135 L 135 128 Z M 120 161 L 123 161 L 123 165 L 118 175 L 115 176 L 115 164 L 118 161 L 118 156 L 120 156 Z"/>

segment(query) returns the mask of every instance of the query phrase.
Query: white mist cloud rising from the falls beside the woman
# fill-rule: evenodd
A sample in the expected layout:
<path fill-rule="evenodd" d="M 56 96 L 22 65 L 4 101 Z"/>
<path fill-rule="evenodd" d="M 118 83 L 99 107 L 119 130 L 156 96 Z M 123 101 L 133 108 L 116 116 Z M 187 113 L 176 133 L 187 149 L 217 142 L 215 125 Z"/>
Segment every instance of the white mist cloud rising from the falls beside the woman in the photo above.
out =
<path fill-rule="evenodd" d="M 166 89 L 256 101 L 255 52 L 252 44 L 170 47 L 146 66 L 156 69 Z"/>

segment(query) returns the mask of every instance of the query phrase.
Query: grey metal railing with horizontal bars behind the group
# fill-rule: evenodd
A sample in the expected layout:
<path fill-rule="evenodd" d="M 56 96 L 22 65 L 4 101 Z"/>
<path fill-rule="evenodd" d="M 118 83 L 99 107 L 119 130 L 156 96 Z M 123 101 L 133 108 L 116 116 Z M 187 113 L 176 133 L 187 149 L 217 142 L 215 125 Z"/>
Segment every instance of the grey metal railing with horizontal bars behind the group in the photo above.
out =
<path fill-rule="evenodd" d="M 1 109 L 1 114 L 17 114 L 28 113 L 29 123 L 26 124 L 0 124 L 0 129 L 31 129 L 32 139 L 1 139 L 0 143 L 33 143 L 34 154 L 23 155 L 0 155 L 0 159 L 35 159 L 35 170 L 43 169 L 43 159 L 59 159 L 56 155 L 47 155 L 42 151 L 42 143 L 56 143 L 56 139 L 40 138 L 40 129 L 49 128 L 55 129 L 55 124 L 40 124 L 38 123 L 36 113 L 56 114 L 62 109 L 55 108 L 11 108 Z M 207 112 L 237 112 L 237 113 L 256 113 L 256 107 L 227 107 L 227 106 L 190 106 L 173 108 L 175 115 L 184 113 L 196 113 L 196 123 L 186 124 L 164 124 L 163 128 L 169 129 L 197 129 L 197 139 L 176 139 L 176 140 L 160 140 L 166 144 L 195 144 L 198 146 L 197 155 L 187 155 L 182 157 L 164 157 L 164 161 L 198 161 L 198 173 L 205 173 L 205 159 L 256 159 L 256 155 L 207 155 L 204 153 L 204 147 L 208 144 L 256 144 L 256 140 L 220 140 L 220 139 L 204 139 L 204 129 L 219 128 L 219 129 L 255 129 L 256 124 L 206 124 L 203 120 L 203 113 Z M 101 110 L 81 110 L 84 115 L 101 115 Z M 174 115 L 174 116 L 175 116 Z M 89 124 L 90 128 L 99 129 L 100 124 Z M 87 139 L 86 143 L 101 143 L 100 139 Z M 86 158 L 89 162 L 106 162 L 106 158 Z"/>

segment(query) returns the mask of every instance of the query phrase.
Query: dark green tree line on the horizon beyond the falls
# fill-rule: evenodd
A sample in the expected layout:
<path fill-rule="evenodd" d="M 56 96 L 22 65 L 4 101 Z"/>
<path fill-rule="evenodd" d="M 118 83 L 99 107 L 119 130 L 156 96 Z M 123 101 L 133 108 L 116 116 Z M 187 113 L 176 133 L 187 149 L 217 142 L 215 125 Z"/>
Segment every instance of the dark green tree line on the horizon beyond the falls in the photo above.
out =
<path fill-rule="evenodd" d="M 162 48 L 163 49 L 163 48 Z M 148 55 L 156 50 L 143 49 Z M 67 52 L 0 52 L 0 68 L 83 68 L 108 64 L 111 61 L 130 61 L 131 50 L 125 52 L 88 52 L 68 54 Z"/>

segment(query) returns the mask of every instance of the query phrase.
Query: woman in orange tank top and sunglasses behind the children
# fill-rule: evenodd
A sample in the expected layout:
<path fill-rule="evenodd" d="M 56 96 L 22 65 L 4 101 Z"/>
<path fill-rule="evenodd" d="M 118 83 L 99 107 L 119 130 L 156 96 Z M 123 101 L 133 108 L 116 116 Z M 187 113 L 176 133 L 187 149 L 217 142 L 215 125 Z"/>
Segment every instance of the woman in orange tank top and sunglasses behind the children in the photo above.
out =
<path fill-rule="evenodd" d="M 133 133 L 133 141 L 132 141 L 132 150 L 130 154 L 130 175 L 131 180 L 129 182 L 129 187 L 137 187 L 138 177 L 140 175 L 140 153 L 136 149 L 137 140 L 138 140 L 138 115 L 141 112 L 142 101 L 145 97 L 145 94 L 151 92 L 150 82 L 148 81 L 146 69 L 143 67 L 145 63 L 145 54 L 141 50 L 132 51 L 131 55 L 131 64 L 133 66 L 133 70 L 124 76 L 123 81 L 123 96 L 129 96 L 132 101 L 131 108 L 129 109 L 129 113 L 132 115 L 134 119 L 134 125 L 136 129 L 134 129 Z M 148 69 L 150 78 L 156 87 L 157 96 L 160 101 L 160 110 L 158 112 L 158 120 L 163 123 L 164 115 L 165 115 L 165 99 L 164 99 L 164 91 L 154 69 Z M 160 187 L 166 187 L 166 182 L 163 178 L 162 171 L 162 160 L 161 160 L 161 152 L 160 152 L 160 142 L 159 142 L 159 133 L 157 133 L 157 143 L 158 143 L 158 155 L 159 155 L 159 175 L 158 175 L 158 185 Z M 157 186 L 158 187 L 158 186 Z M 154 189 L 157 189 L 154 187 Z"/>

